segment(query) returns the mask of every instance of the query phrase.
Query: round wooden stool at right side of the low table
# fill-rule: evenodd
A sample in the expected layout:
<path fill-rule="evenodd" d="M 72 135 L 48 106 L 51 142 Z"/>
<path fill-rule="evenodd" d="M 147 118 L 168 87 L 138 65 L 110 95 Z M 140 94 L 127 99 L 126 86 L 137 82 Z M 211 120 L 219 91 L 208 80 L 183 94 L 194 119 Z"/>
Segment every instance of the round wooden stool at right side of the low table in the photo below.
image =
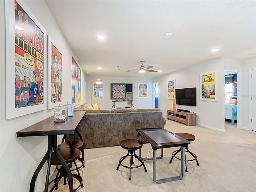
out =
<path fill-rule="evenodd" d="M 182 137 L 182 138 L 184 138 L 184 139 L 186 139 L 186 140 L 188 140 L 188 141 L 190 141 L 190 142 L 192 142 L 192 141 L 194 141 L 194 140 L 196 139 L 196 136 L 194 136 L 194 135 L 192 135 L 192 134 L 189 134 L 189 133 L 175 133 L 175 135 L 178 135 L 178 136 L 180 136 L 180 137 Z M 180 148 L 180 149 L 181 149 L 181 148 Z M 172 158 L 170 159 L 170 163 L 172 163 L 173 158 L 176 158 L 176 159 L 179 159 L 179 160 L 180 160 L 180 158 L 176 157 L 176 155 L 178 154 L 178 152 L 180 152 L 180 149 L 179 149 L 179 150 L 176 150 L 176 151 L 174 151 L 174 152 L 172 152 Z M 192 156 L 193 156 L 193 159 L 187 160 L 187 159 L 186 159 L 186 152 L 188 152 L 190 155 L 192 155 Z M 196 160 L 196 163 L 197 163 L 197 165 L 199 166 L 199 163 L 198 163 L 196 154 L 194 154 L 194 153 L 192 153 L 190 150 L 188 150 L 188 145 L 187 145 L 187 146 L 186 146 L 186 149 L 185 149 L 185 165 L 186 165 L 186 170 L 185 170 L 185 171 L 186 171 L 186 172 L 188 172 L 188 170 L 187 170 L 187 161 L 194 161 L 194 160 Z"/>

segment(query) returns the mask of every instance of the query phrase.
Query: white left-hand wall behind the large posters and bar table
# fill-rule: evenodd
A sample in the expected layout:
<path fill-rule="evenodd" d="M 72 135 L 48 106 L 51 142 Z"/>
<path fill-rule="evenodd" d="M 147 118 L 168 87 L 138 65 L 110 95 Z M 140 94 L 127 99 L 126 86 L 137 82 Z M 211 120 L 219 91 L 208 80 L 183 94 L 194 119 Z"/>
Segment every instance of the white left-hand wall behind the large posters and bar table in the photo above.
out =
<path fill-rule="evenodd" d="M 19 1 L 18 1 L 19 2 Z M 47 136 L 17 138 L 16 132 L 36 122 L 53 115 L 53 110 L 42 110 L 34 114 L 5 119 L 5 1 L 0 1 L 0 191 L 1 192 L 26 192 L 29 191 L 30 180 L 36 167 L 42 160 L 47 146 Z M 62 103 L 70 102 L 70 46 L 58 28 L 52 14 L 44 1 L 25 1 L 36 18 L 54 40 L 55 46 L 62 53 Z M 45 37 L 46 38 L 46 37 Z M 46 50 L 45 50 L 46 53 Z M 45 67 L 47 64 L 45 64 Z M 45 74 L 47 76 L 47 74 Z M 84 79 L 82 74 L 82 81 Z M 14 82 L 13 82 L 14 83 Z M 45 90 L 47 86 L 44 85 Z M 82 90 L 83 93 L 83 90 Z M 47 92 L 44 92 L 47 95 Z M 82 94 L 83 98 L 83 94 Z M 45 183 L 46 166 L 38 175 L 35 191 L 42 191 Z"/>

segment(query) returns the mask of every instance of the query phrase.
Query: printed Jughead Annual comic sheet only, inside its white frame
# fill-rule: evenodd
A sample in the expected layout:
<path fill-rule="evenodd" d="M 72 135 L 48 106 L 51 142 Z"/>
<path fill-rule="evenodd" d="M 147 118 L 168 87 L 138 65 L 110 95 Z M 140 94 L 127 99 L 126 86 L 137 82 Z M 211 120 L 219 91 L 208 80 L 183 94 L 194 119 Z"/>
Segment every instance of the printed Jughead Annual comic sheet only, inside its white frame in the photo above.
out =
<path fill-rule="evenodd" d="M 45 34 L 15 1 L 15 108 L 44 101 Z"/>

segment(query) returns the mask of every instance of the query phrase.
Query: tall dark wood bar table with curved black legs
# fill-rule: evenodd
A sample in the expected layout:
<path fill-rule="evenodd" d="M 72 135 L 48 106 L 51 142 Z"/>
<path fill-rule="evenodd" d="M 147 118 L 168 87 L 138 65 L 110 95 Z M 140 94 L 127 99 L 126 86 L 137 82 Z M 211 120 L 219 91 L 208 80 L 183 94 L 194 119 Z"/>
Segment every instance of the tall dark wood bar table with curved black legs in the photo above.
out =
<path fill-rule="evenodd" d="M 29 189 L 30 192 L 35 191 L 36 178 L 40 170 L 44 166 L 45 162 L 49 159 L 47 174 L 46 174 L 45 189 L 44 189 L 45 192 L 48 192 L 52 150 L 55 152 L 56 156 L 58 157 L 62 166 L 65 168 L 68 174 L 69 191 L 70 192 L 74 191 L 73 177 L 72 177 L 70 168 L 68 164 L 66 164 L 64 158 L 60 155 L 60 152 L 58 152 L 58 149 L 57 149 L 57 136 L 63 135 L 63 134 L 74 134 L 76 128 L 79 126 L 80 122 L 84 118 L 85 113 L 86 113 L 85 111 L 74 111 L 74 116 L 68 117 L 67 120 L 64 122 L 54 122 L 54 119 L 52 116 L 17 132 L 18 137 L 48 136 L 48 150 L 32 176 L 32 180 L 30 182 L 30 189 Z"/>

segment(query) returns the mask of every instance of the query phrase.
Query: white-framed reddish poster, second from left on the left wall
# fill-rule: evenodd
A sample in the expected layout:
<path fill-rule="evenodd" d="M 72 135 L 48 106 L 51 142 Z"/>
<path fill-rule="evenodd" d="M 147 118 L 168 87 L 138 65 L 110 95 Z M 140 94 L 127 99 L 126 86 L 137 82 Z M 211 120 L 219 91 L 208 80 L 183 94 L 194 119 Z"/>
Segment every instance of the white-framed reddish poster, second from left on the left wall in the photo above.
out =
<path fill-rule="evenodd" d="M 48 35 L 48 97 L 47 109 L 62 102 L 62 54 Z"/>

